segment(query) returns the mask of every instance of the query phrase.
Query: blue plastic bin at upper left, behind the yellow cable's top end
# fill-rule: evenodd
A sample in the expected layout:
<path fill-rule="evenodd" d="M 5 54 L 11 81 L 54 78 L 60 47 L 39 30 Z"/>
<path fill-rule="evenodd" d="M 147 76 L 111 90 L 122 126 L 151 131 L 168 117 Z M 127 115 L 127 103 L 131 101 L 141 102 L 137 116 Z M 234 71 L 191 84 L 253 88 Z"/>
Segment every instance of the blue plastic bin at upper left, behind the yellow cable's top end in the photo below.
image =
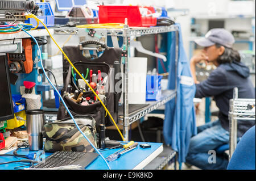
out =
<path fill-rule="evenodd" d="M 39 2 L 36 4 L 43 11 L 42 16 L 37 16 L 38 19 L 42 20 L 42 22 L 46 24 L 47 27 L 54 26 L 54 15 L 50 3 Z M 33 27 L 35 27 L 37 24 L 36 20 L 33 18 L 28 18 L 25 20 L 25 23 L 33 24 Z M 44 28 L 43 24 L 39 22 L 38 28 Z"/>

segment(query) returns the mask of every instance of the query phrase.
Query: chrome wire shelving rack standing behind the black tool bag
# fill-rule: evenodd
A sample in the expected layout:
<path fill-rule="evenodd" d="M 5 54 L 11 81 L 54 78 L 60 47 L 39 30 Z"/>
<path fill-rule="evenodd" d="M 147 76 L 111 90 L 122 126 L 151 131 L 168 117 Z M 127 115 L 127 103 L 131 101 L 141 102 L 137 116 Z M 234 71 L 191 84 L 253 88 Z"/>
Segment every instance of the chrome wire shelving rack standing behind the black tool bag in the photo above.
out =
<path fill-rule="evenodd" d="M 54 34 L 55 35 L 79 35 L 79 29 L 84 28 L 55 28 Z M 97 30 L 101 30 L 103 28 L 97 28 Z M 177 31 L 178 27 L 175 25 L 172 26 L 159 26 L 159 27 L 129 27 L 127 24 L 123 28 L 115 29 L 110 28 L 107 29 L 107 35 L 113 35 L 113 33 L 116 36 L 123 38 L 123 51 L 129 51 L 130 47 L 130 38 L 143 36 L 143 35 L 152 35 L 156 33 L 165 33 L 165 32 L 176 32 L 176 58 L 175 58 L 175 65 L 176 65 L 176 71 L 175 75 L 177 74 L 177 56 L 179 51 L 179 32 Z M 129 54 L 129 53 L 127 53 Z M 119 117 L 120 120 L 122 120 L 123 125 L 123 137 L 125 138 L 125 141 L 128 141 L 129 138 L 129 126 L 134 121 L 140 119 L 147 113 L 156 110 L 158 107 L 162 106 L 163 104 L 167 103 L 171 99 L 176 97 L 176 89 L 175 90 L 168 90 L 163 91 L 163 96 L 160 100 L 155 102 L 147 102 L 149 106 L 144 107 L 142 110 L 135 111 L 133 113 L 129 113 L 129 100 L 128 100 L 128 64 L 129 64 L 129 56 L 124 57 L 123 61 L 123 116 Z M 176 84 L 177 85 L 177 81 Z M 176 86 L 177 87 L 177 86 Z"/>

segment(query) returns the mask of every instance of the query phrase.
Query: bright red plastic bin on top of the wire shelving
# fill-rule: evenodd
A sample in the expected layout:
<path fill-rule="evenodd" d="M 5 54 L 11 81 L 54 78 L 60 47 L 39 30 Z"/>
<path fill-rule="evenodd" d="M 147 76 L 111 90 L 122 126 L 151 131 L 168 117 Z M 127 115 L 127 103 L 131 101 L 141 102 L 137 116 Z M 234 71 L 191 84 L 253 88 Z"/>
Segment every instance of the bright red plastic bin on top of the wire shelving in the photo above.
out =
<path fill-rule="evenodd" d="M 98 6 L 99 23 L 127 23 L 130 27 L 150 27 L 156 26 L 156 18 L 142 17 L 139 6 Z M 147 14 L 155 12 L 154 7 L 144 7 L 148 9 Z"/>

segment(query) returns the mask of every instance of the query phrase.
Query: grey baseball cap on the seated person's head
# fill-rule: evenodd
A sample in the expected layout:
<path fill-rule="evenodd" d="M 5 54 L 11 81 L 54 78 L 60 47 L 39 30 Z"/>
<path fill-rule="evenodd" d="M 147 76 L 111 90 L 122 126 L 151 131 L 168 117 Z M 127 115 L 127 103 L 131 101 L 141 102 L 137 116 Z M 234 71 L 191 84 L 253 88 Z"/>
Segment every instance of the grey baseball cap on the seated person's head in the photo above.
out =
<path fill-rule="evenodd" d="M 216 43 L 225 47 L 232 48 L 234 36 L 223 28 L 213 28 L 208 31 L 203 38 L 195 40 L 195 43 L 201 47 L 210 47 Z"/>

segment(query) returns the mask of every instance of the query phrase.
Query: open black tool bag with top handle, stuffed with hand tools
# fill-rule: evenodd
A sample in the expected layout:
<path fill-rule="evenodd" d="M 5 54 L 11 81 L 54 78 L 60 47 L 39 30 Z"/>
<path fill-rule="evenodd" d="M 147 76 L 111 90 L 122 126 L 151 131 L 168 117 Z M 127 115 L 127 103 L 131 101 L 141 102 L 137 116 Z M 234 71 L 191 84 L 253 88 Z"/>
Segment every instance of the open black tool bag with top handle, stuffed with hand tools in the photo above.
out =
<path fill-rule="evenodd" d="M 92 42 L 89 42 L 89 43 L 92 43 Z M 122 92 L 118 92 L 117 95 L 114 94 L 114 91 L 113 91 L 114 70 L 112 68 L 113 68 L 114 61 L 119 61 L 119 62 L 121 61 L 122 49 L 110 48 L 110 47 L 104 46 L 103 48 L 105 48 L 105 50 L 102 53 L 102 55 L 96 59 L 90 60 L 86 58 L 80 50 L 80 46 L 84 47 L 86 44 L 88 44 L 88 42 L 82 42 L 78 46 L 64 46 L 63 51 L 67 54 L 67 56 L 69 57 L 69 60 L 71 60 L 72 64 L 76 67 L 77 70 L 79 70 L 81 74 L 83 73 L 85 75 L 87 68 L 89 68 L 89 70 L 92 69 L 93 73 L 96 73 L 97 70 L 101 70 L 102 74 L 103 73 L 107 74 L 108 83 L 105 86 L 107 86 L 106 90 L 108 91 L 105 92 L 105 99 L 102 101 L 104 102 L 106 108 L 108 108 L 108 111 L 112 115 L 115 123 L 117 123 L 118 110 L 114 109 L 114 107 L 116 106 L 118 107 L 118 105 L 114 105 L 114 103 L 116 103 L 115 99 L 118 99 L 118 100 L 120 99 Z M 77 79 L 79 78 L 80 76 L 77 75 Z M 72 77 L 71 65 L 67 60 L 65 60 L 64 56 L 63 56 L 63 82 L 64 82 L 64 88 L 61 94 L 63 94 L 64 91 L 68 91 L 68 89 L 78 90 Z M 122 85 L 120 85 L 120 87 L 121 86 Z M 84 92 L 83 96 L 84 98 L 86 96 L 94 97 L 94 94 L 92 91 L 86 91 Z M 64 101 L 67 104 L 72 115 L 90 115 L 94 117 L 97 125 L 99 124 L 105 124 L 105 126 L 113 125 L 112 120 L 110 119 L 109 116 L 106 116 L 104 107 L 99 101 L 94 104 L 89 104 L 88 106 L 81 106 L 80 104 L 73 102 L 67 96 L 64 96 Z M 59 111 L 57 113 L 57 119 L 64 119 L 65 117 L 70 117 L 70 116 L 67 110 L 65 110 L 63 103 L 61 103 L 59 107 Z"/>

